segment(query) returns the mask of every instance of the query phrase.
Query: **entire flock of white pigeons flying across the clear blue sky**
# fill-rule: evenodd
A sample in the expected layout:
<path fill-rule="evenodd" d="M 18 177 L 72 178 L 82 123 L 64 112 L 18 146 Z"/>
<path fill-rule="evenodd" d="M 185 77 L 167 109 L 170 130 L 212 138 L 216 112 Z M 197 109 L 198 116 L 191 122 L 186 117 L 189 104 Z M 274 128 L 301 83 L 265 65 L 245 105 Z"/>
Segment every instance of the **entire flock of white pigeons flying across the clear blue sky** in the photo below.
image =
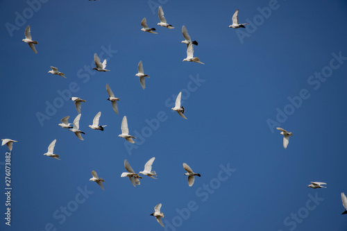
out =
<path fill-rule="evenodd" d="M 92 0 L 90 0 L 90 1 L 92 1 Z M 239 24 L 239 22 L 238 22 L 238 12 L 239 12 L 239 10 L 237 9 L 235 11 L 234 15 L 232 16 L 232 24 L 230 26 L 228 26 L 229 28 L 245 28 L 246 24 Z M 158 8 L 158 17 L 160 19 L 160 22 L 157 24 L 158 26 L 166 27 L 169 29 L 174 28 L 174 26 L 167 23 L 167 20 L 164 17 L 164 12 L 163 12 L 161 6 L 159 6 L 159 8 Z M 141 26 L 143 27 L 141 29 L 141 31 L 152 33 L 152 34 L 158 34 L 157 32 L 155 32 L 155 28 L 149 28 L 149 26 L 147 25 L 147 22 L 146 22 L 146 17 L 144 17 L 144 19 L 142 19 Z M 197 62 L 200 64 L 204 64 L 203 62 L 200 61 L 200 59 L 198 57 L 194 57 L 193 45 L 197 46 L 198 42 L 196 42 L 195 40 L 192 41 L 191 37 L 188 34 L 187 28 L 185 28 L 185 26 L 182 27 L 182 33 L 183 33 L 183 37 L 185 38 L 185 40 L 183 40 L 181 43 L 187 44 L 187 58 L 183 59 L 183 62 L 187 61 L 187 62 Z M 37 51 L 35 49 L 35 44 L 38 44 L 38 43 L 37 43 L 37 41 L 32 40 L 30 26 L 26 27 L 25 39 L 22 41 L 26 42 L 30 46 L 30 48 L 35 53 L 37 53 Z M 110 71 L 110 70 L 106 69 L 107 61 L 103 60 L 103 62 L 101 62 L 99 56 L 96 53 L 94 53 L 94 62 L 95 62 L 96 67 L 94 67 L 93 70 L 103 71 L 103 72 Z M 142 60 L 139 61 L 139 64 L 137 65 L 137 70 L 138 70 L 138 73 L 135 76 L 139 77 L 140 85 L 142 86 L 143 89 L 145 89 L 145 87 L 146 87 L 145 78 L 149 78 L 149 76 L 147 74 L 144 74 L 144 68 L 142 65 Z M 62 76 L 64 78 L 66 78 L 65 74 L 58 71 L 58 68 L 56 68 L 56 67 L 51 67 L 51 71 L 48 71 L 48 73 Z M 106 91 L 109 95 L 108 101 L 111 101 L 113 110 L 115 111 L 116 114 L 119 114 L 118 107 L 117 107 L 117 101 L 119 101 L 119 98 L 115 97 L 115 94 L 112 92 L 112 89 L 110 88 L 110 86 L 108 84 L 106 84 Z M 183 106 L 180 105 L 181 94 L 182 94 L 182 92 L 180 92 L 178 94 L 178 96 L 176 98 L 175 107 L 171 108 L 171 110 L 178 112 L 178 114 L 180 114 L 181 117 L 183 117 L 184 119 L 187 119 L 184 115 L 185 108 L 183 108 Z M 74 101 L 76 110 L 78 112 L 78 115 L 74 119 L 74 123 L 72 123 L 72 124 L 69 123 L 68 122 L 69 116 L 67 116 L 67 117 L 64 117 L 61 119 L 62 123 L 59 123 L 58 126 L 60 126 L 62 128 L 68 128 L 69 131 L 75 133 L 75 135 L 78 137 L 78 139 L 83 140 L 83 137 L 81 134 L 85 134 L 85 132 L 79 130 L 79 121 L 81 119 L 82 102 L 86 102 L 86 101 L 83 99 L 80 99 L 78 97 L 71 97 L 71 101 Z M 106 125 L 103 125 L 103 126 L 99 125 L 100 117 L 101 117 L 101 112 L 98 112 L 93 119 L 92 125 L 90 125 L 89 127 L 92 128 L 93 130 L 103 131 L 104 128 L 106 127 Z M 277 129 L 280 130 L 281 131 L 280 134 L 283 135 L 283 147 L 287 148 L 287 146 L 289 144 L 289 136 L 293 136 L 292 133 L 287 132 L 287 130 L 284 130 L 282 128 L 277 128 Z M 134 137 L 133 135 L 129 135 L 128 121 L 126 119 L 126 116 L 124 116 L 122 121 L 121 121 L 121 135 L 119 135 L 119 137 L 126 139 L 131 144 L 135 143 L 135 141 L 133 139 L 136 139 L 136 137 Z M 17 141 L 12 140 L 12 139 L 1 139 L 1 141 L 2 141 L 1 146 L 7 144 L 8 149 L 10 151 L 12 151 L 12 144 L 14 142 L 17 142 Z M 53 142 L 51 142 L 51 144 L 49 144 L 48 151 L 46 153 L 44 153 L 44 155 L 46 155 L 48 157 L 53 157 L 56 160 L 60 160 L 58 158 L 59 155 L 53 153 L 54 147 L 56 146 L 56 141 L 57 140 L 54 139 Z M 142 177 L 139 176 L 139 174 L 142 174 L 144 176 L 149 176 L 150 178 L 153 178 L 153 179 L 157 179 L 157 178 L 155 178 L 155 176 L 157 176 L 157 173 L 155 171 L 152 171 L 152 165 L 153 165 L 154 160 L 155 160 L 155 157 L 152 157 L 148 162 L 146 162 L 146 164 L 144 165 L 144 171 L 139 171 L 139 173 L 135 173 L 133 168 L 130 166 L 128 160 L 124 160 L 124 166 L 126 168 L 126 172 L 121 173 L 121 177 L 122 178 L 128 177 L 130 179 L 130 182 L 132 183 L 132 185 L 134 187 L 136 185 L 140 185 L 139 179 L 142 179 Z M 200 177 L 201 175 L 199 173 L 194 173 L 194 171 L 192 171 L 192 169 L 186 163 L 183 163 L 183 168 L 185 169 L 185 171 L 187 171 L 187 173 L 185 173 L 185 176 L 188 176 L 188 185 L 189 185 L 189 187 L 192 187 L 192 185 L 194 184 L 195 176 Z M 101 189 L 104 190 L 103 182 L 105 182 L 105 180 L 103 180 L 103 178 L 99 178 L 98 174 L 94 170 L 92 171 L 92 178 L 90 178 L 90 181 L 96 182 L 101 187 Z M 326 183 L 325 182 L 311 182 L 311 185 L 308 185 L 307 187 L 312 187 L 313 189 L 326 188 L 323 185 L 326 185 Z M 345 211 L 342 214 L 347 214 L 347 198 L 346 198 L 346 195 L 344 193 L 341 193 L 341 200 L 342 200 L 342 203 L 343 203 L 344 208 L 345 208 Z M 151 216 L 155 216 L 155 219 L 158 221 L 158 223 L 160 223 L 160 225 L 162 225 L 162 227 L 164 227 L 164 224 L 162 223 L 162 218 L 164 218 L 164 214 L 162 212 L 160 212 L 161 207 L 162 207 L 161 203 L 156 205 L 154 207 L 154 212 L 151 214 Z"/>

